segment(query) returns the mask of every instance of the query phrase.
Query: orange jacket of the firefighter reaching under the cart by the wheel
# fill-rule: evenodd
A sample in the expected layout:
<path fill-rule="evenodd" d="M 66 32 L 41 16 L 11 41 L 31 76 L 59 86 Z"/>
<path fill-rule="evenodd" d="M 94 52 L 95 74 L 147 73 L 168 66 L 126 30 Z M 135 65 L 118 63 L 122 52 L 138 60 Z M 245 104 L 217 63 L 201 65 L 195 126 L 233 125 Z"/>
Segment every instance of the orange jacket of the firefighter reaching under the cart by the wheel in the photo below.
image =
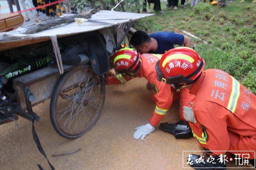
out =
<path fill-rule="evenodd" d="M 141 55 L 141 66 L 139 77 L 145 77 L 152 87 L 154 93 L 154 102 L 156 103 L 156 109 L 154 115 L 150 119 L 150 125 L 156 126 L 161 119 L 166 115 L 169 107 L 172 105 L 173 89 L 170 85 L 158 81 L 156 79 L 156 62 L 161 58 L 160 54 L 148 54 Z M 106 77 L 107 85 L 121 84 L 129 81 L 130 77 L 122 76 L 121 74 L 116 77 Z M 175 93 L 176 94 L 176 93 Z M 176 96 L 176 95 L 175 95 Z"/>

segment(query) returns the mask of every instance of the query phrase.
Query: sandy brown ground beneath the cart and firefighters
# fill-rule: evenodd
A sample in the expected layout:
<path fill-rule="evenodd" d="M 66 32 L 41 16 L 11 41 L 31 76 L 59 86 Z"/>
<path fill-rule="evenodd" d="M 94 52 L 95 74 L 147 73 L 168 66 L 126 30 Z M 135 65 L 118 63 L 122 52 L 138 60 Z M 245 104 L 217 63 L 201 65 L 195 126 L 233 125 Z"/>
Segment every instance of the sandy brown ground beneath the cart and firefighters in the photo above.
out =
<path fill-rule="evenodd" d="M 76 140 L 62 138 L 54 131 L 49 118 L 49 101 L 34 107 L 34 112 L 41 117 L 35 123 L 40 142 L 56 170 L 182 169 L 182 152 L 201 150 L 194 138 L 177 140 L 158 128 L 143 141 L 132 136 L 135 127 L 148 123 L 155 109 L 146 82 L 137 78 L 124 85 L 106 87 L 100 119 Z M 178 119 L 178 102 L 175 102 L 162 122 L 174 123 Z M 31 123 L 20 118 L 18 124 L 18 128 L 14 123 L 0 126 L 0 169 L 34 170 L 38 169 L 38 163 L 49 169 L 33 141 Z M 79 148 L 81 151 L 75 154 L 51 156 Z M 188 167 L 186 163 L 185 166 Z"/>

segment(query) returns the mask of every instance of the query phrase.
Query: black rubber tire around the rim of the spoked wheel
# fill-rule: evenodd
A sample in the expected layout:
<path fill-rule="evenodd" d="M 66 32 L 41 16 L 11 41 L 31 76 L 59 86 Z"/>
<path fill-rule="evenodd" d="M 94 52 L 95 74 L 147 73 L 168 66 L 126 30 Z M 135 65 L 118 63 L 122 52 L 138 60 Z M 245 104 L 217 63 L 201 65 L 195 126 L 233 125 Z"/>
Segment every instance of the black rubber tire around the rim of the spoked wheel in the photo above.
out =
<path fill-rule="evenodd" d="M 82 67 L 88 67 L 90 69 L 92 69 L 90 66 L 82 66 Z M 80 69 L 81 67 L 78 67 L 77 69 Z M 95 119 L 94 123 L 92 123 L 92 125 L 84 132 L 78 134 L 78 135 L 74 135 L 74 136 L 70 136 L 68 134 L 65 134 L 64 132 L 62 132 L 62 130 L 60 130 L 60 128 L 57 125 L 56 122 L 56 115 L 55 115 L 55 103 L 60 91 L 60 88 L 62 87 L 62 84 L 65 82 L 65 80 L 68 78 L 69 75 L 72 74 L 74 70 L 70 70 L 67 71 L 66 73 L 64 73 L 62 75 L 62 77 L 60 77 L 60 80 L 56 83 L 54 90 L 52 92 L 52 97 L 51 97 L 51 101 L 50 101 L 50 119 L 51 119 L 51 123 L 52 126 L 54 127 L 54 130 L 62 137 L 64 138 L 68 138 L 68 139 L 75 139 L 75 138 L 79 138 L 82 135 L 84 135 L 86 132 L 88 132 L 92 127 L 94 127 L 94 125 L 96 124 L 96 122 L 98 121 L 98 119 L 100 118 L 100 115 L 102 113 L 102 109 L 104 107 L 104 102 L 105 102 L 105 95 L 106 95 L 106 88 L 105 88 L 105 83 L 104 83 L 104 78 L 103 76 L 100 76 L 100 84 L 101 84 L 101 91 L 100 93 L 103 95 L 103 101 L 102 101 L 102 106 L 100 109 L 100 113 L 98 114 L 98 117 Z"/>

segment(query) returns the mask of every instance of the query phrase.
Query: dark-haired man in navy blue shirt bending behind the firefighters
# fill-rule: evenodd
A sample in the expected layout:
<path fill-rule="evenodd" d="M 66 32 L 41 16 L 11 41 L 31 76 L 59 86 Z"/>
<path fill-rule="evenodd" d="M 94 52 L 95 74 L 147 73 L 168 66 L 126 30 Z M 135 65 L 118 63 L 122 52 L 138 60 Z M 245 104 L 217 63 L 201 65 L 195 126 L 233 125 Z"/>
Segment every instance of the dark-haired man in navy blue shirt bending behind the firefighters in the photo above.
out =
<path fill-rule="evenodd" d="M 130 40 L 130 43 L 140 53 L 155 53 L 163 54 L 169 49 L 174 48 L 174 45 L 183 45 L 191 47 L 189 37 L 174 32 L 156 32 L 148 35 L 144 31 L 136 31 Z"/>

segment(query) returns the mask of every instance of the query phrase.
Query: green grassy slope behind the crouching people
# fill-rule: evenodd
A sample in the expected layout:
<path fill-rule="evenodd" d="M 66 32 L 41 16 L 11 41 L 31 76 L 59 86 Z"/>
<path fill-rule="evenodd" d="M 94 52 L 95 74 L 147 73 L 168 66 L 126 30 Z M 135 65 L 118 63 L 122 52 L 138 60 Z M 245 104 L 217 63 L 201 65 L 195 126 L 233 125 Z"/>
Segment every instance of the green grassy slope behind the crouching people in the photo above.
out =
<path fill-rule="evenodd" d="M 252 0 L 226 0 L 226 3 L 221 9 L 209 2 L 192 8 L 189 0 L 185 8 L 179 2 L 178 10 L 173 10 L 166 9 L 166 3 L 161 2 L 163 14 L 144 18 L 134 27 L 149 34 L 158 31 L 184 34 L 182 30 L 194 34 L 211 44 L 192 38 L 196 51 L 206 60 L 206 69 L 227 71 L 256 94 L 256 3 Z"/>

